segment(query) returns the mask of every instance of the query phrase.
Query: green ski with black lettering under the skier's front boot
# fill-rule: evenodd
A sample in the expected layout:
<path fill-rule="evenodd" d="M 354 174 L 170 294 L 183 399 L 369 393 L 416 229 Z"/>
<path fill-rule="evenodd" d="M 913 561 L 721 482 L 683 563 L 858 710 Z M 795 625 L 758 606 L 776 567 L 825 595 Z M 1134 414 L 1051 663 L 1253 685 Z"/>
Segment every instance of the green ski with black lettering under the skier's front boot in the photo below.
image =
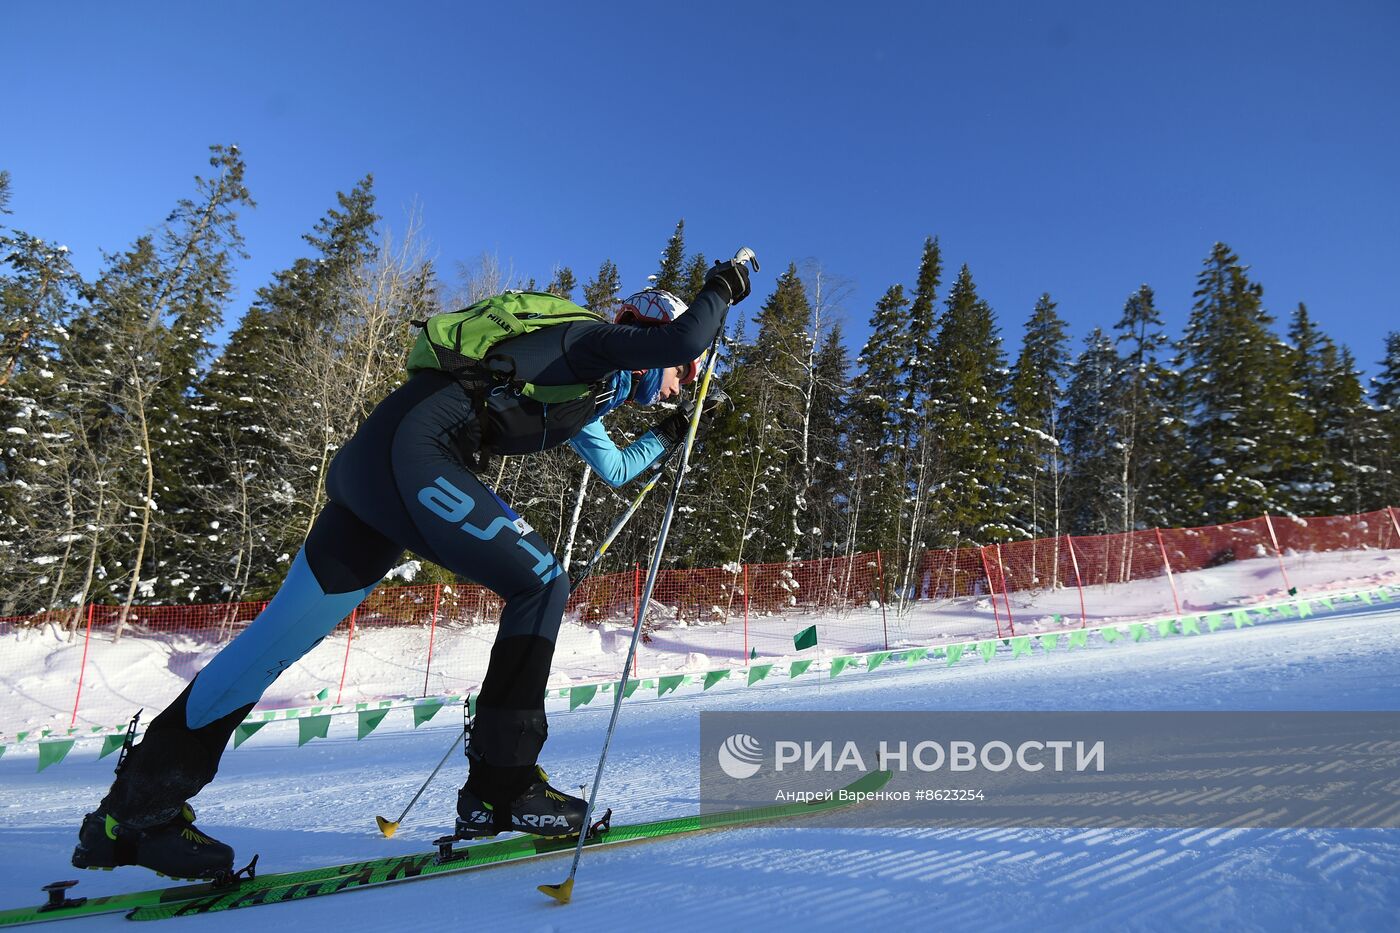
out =
<path fill-rule="evenodd" d="M 890 779 L 890 772 L 878 770 L 865 775 L 844 787 L 846 794 L 874 792 L 883 787 Z M 750 810 L 736 810 L 729 814 L 676 817 L 671 820 L 655 820 L 626 827 L 609 827 L 589 834 L 584 841 L 584 848 L 603 848 L 627 842 L 643 842 L 647 839 L 662 839 L 707 832 L 711 829 L 728 829 L 734 827 L 756 825 L 773 822 L 791 817 L 802 817 L 813 813 L 840 810 L 850 807 L 854 800 L 841 800 L 841 794 L 833 794 L 832 800 L 813 803 L 777 804 L 773 807 L 755 807 Z M 195 913 L 213 913 L 216 911 L 235 911 L 246 906 L 260 906 L 263 904 L 280 904 L 284 901 L 302 901 L 326 894 L 340 894 L 342 891 L 356 891 L 372 888 L 400 881 L 414 881 L 447 874 L 461 874 L 494 864 L 526 862 L 543 856 L 570 853 L 574 850 L 575 839 L 542 839 L 539 836 L 515 836 L 500 842 L 484 842 L 466 846 L 452 852 L 449 841 L 444 841 L 438 852 L 427 852 L 412 856 L 393 856 L 388 859 L 374 859 L 353 864 L 326 869 L 321 878 L 295 878 L 270 887 L 259 885 L 256 890 L 224 891 L 206 894 L 203 897 L 188 898 L 179 902 L 165 902 L 143 905 L 127 913 L 130 920 L 162 920 L 174 916 L 189 916 Z M 302 873 L 305 874 L 305 873 Z"/>

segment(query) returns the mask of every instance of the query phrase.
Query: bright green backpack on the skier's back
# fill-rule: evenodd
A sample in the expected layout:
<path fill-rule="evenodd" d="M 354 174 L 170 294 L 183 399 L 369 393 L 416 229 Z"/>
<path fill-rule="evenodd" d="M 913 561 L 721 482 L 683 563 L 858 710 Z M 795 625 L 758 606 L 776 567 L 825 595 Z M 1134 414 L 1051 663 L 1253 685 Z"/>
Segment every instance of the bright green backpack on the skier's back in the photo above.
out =
<path fill-rule="evenodd" d="M 522 395 L 553 405 L 587 395 L 592 387 L 535 385 L 515 380 L 515 363 L 504 353 L 493 353 L 501 340 L 532 333 L 540 328 L 574 321 L 605 321 L 603 315 L 573 301 L 543 291 L 507 291 L 461 311 L 434 314 L 414 321 L 423 328 L 409 353 L 409 374 L 441 370 L 470 389 L 518 385 Z"/>

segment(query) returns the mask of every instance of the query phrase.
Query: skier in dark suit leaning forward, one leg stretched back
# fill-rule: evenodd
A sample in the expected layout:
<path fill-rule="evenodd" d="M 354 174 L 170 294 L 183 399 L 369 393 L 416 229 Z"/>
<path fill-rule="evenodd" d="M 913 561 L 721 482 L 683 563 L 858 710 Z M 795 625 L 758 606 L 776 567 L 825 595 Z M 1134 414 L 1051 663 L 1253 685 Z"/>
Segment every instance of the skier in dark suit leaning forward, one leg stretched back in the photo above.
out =
<path fill-rule="evenodd" d="M 234 728 L 277 675 L 329 635 L 405 549 L 504 600 L 458 793 L 458 835 L 581 832 L 585 801 L 552 787 L 538 765 L 568 576 L 479 474 L 486 457 L 568 441 L 608 483 L 637 476 L 682 441 L 693 403 L 624 450 L 608 437 L 602 416 L 627 401 L 645 408 L 676 395 L 694 380 L 725 308 L 748 294 L 743 263 L 717 262 L 689 310 L 666 291 L 647 290 L 623 301 L 613 322 L 575 319 L 512 336 L 493 349 L 510 380 L 490 392 L 472 391 L 442 368 L 414 371 L 416 349 L 409 380 L 330 464 L 328 503 L 276 597 L 129 749 L 112 789 L 83 821 L 73 864 L 227 876 L 232 849 L 195 828 L 189 799 L 214 779 Z M 553 405 L 522 394 L 524 384 L 588 391 L 582 401 Z"/>

